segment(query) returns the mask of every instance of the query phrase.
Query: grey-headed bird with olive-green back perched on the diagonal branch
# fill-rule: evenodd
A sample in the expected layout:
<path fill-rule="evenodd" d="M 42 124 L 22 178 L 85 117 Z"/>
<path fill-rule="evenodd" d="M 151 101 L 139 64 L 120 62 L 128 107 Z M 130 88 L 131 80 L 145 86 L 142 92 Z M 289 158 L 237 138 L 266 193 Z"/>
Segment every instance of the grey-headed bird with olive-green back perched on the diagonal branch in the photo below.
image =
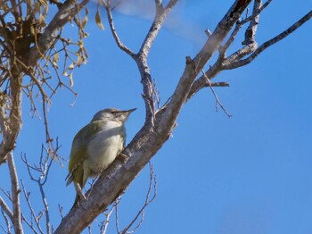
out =
<path fill-rule="evenodd" d="M 121 153 L 126 144 L 125 122 L 135 109 L 120 111 L 114 108 L 95 113 L 94 118 L 75 136 L 70 152 L 68 186 L 74 181 L 77 195 L 75 206 L 80 198 L 81 188 L 89 177 L 96 177 L 105 170 Z M 79 185 L 80 188 L 77 188 Z"/>

